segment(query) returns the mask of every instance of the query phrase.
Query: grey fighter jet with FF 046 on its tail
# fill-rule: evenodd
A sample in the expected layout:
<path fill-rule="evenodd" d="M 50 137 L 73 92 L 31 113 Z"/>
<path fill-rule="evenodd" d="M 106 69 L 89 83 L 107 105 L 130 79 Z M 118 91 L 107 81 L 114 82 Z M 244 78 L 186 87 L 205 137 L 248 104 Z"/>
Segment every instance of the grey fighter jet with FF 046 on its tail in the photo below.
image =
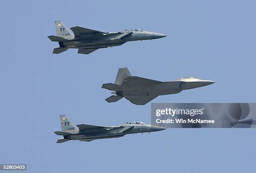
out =
<path fill-rule="evenodd" d="M 141 29 L 107 33 L 80 26 L 70 28 L 73 34 L 62 21 L 56 21 L 55 27 L 57 36 L 48 36 L 51 41 L 59 42 L 59 48 L 55 48 L 53 51 L 55 54 L 62 53 L 69 48 L 77 48 L 77 53 L 89 54 L 99 48 L 119 46 L 128 41 L 152 40 L 166 37 L 164 34 L 148 32 Z"/>

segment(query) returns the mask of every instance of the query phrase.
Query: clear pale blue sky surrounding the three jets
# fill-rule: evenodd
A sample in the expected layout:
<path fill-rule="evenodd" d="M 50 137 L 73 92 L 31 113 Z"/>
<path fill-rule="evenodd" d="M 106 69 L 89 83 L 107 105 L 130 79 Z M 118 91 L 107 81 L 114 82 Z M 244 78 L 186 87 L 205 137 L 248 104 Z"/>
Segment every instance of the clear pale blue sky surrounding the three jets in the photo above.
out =
<path fill-rule="evenodd" d="M 0 163 L 27 172 L 255 172 L 255 129 L 167 129 L 123 138 L 56 144 L 59 116 L 75 123 L 150 123 L 151 104 L 107 103 L 103 83 L 118 68 L 155 80 L 214 80 L 154 103 L 255 103 L 256 1 L 3 1 L 0 6 Z M 126 28 L 166 38 L 125 43 L 90 55 L 58 44 L 55 20 L 102 31 Z"/>

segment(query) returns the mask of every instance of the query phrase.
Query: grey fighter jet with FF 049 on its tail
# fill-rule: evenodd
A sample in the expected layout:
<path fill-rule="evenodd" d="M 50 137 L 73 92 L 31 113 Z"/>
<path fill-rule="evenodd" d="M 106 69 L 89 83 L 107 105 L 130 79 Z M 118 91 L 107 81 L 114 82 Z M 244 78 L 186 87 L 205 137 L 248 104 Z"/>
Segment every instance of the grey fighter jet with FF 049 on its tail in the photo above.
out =
<path fill-rule="evenodd" d="M 111 127 L 89 124 L 74 125 L 66 115 L 60 115 L 59 117 L 62 131 L 56 131 L 54 133 L 56 135 L 63 135 L 64 138 L 57 140 L 56 143 L 64 143 L 69 140 L 90 142 L 96 139 L 120 138 L 127 134 L 150 133 L 166 129 L 140 121 L 127 122 Z"/>

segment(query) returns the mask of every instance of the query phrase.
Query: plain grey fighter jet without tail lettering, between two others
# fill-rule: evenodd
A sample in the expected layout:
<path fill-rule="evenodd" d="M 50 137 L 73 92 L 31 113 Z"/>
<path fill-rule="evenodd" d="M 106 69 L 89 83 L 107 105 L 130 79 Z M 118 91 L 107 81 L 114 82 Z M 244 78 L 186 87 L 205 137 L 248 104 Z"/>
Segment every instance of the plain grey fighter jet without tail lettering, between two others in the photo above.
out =
<path fill-rule="evenodd" d="M 119 68 L 114 83 L 105 83 L 102 88 L 114 91 L 114 95 L 106 98 L 110 102 L 116 102 L 125 97 L 136 105 L 145 105 L 159 95 L 177 94 L 182 90 L 189 90 L 215 83 L 212 80 L 201 80 L 195 77 L 180 78 L 169 82 L 161 82 L 132 76 L 128 68 Z"/>

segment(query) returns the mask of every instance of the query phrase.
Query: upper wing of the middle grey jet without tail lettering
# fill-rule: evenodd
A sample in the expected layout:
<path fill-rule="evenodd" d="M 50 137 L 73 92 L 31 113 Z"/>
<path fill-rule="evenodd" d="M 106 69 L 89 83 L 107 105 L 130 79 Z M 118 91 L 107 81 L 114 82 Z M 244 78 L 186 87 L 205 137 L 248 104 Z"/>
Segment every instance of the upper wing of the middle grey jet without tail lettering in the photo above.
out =
<path fill-rule="evenodd" d="M 122 86 L 152 85 L 156 83 L 161 83 L 161 81 L 141 78 L 138 76 L 128 76 L 123 80 Z"/>

